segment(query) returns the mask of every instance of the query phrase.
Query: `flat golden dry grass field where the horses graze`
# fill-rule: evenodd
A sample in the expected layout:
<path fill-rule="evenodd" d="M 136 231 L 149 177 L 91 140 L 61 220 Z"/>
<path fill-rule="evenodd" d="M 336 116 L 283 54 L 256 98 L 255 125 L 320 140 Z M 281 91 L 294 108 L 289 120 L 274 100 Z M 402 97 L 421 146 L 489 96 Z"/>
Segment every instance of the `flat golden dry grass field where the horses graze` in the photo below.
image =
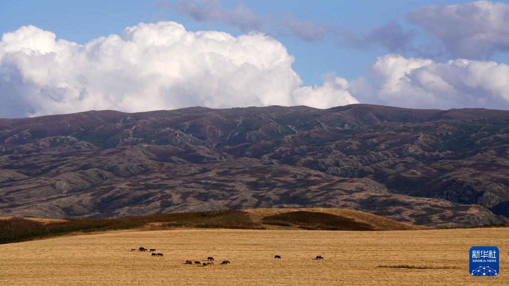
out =
<path fill-rule="evenodd" d="M 499 276 L 469 275 L 474 245 L 498 246 Z M 140 246 L 164 257 L 130 252 Z M 509 285 L 508 250 L 509 228 L 124 230 L 0 245 L 0 285 Z M 184 264 L 207 256 L 216 265 Z M 399 264 L 450 269 L 377 267 Z"/>

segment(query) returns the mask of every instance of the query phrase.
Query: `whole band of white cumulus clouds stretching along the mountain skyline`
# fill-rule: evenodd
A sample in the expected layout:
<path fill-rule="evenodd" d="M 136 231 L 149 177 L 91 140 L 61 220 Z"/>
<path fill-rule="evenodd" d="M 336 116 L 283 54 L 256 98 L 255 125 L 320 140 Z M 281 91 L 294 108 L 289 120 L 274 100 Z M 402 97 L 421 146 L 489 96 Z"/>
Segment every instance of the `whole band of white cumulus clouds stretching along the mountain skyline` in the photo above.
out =
<path fill-rule="evenodd" d="M 140 23 L 83 45 L 22 26 L 0 40 L 0 118 L 91 109 L 127 112 L 188 106 L 376 103 L 413 108 L 509 109 L 509 66 L 437 62 L 391 53 L 366 77 L 325 74 L 304 86 L 286 47 L 260 33 L 189 32 Z"/>

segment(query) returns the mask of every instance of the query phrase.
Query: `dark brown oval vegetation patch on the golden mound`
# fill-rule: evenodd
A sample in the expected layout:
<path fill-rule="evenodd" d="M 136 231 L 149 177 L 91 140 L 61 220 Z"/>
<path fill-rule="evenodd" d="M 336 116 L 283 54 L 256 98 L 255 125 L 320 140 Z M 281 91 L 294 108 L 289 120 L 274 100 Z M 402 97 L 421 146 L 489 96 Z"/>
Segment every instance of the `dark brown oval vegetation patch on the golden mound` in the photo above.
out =
<path fill-rule="evenodd" d="M 295 226 L 304 230 L 326 231 L 374 231 L 373 225 L 358 222 L 350 218 L 310 211 L 296 211 L 262 218 L 262 222 L 271 225 Z"/>

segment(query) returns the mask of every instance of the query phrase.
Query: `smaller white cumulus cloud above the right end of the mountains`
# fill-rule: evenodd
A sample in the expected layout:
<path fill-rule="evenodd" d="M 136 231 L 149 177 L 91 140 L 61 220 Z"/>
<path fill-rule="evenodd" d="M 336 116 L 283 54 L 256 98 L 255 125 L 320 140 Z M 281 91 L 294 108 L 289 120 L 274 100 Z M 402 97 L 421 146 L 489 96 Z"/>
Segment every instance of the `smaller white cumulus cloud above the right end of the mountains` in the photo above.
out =
<path fill-rule="evenodd" d="M 372 88 L 361 79 L 349 91 L 356 97 L 359 91 L 372 91 L 378 103 L 401 107 L 509 109 L 506 64 L 462 59 L 438 63 L 387 54 L 369 68 L 369 77 Z"/>

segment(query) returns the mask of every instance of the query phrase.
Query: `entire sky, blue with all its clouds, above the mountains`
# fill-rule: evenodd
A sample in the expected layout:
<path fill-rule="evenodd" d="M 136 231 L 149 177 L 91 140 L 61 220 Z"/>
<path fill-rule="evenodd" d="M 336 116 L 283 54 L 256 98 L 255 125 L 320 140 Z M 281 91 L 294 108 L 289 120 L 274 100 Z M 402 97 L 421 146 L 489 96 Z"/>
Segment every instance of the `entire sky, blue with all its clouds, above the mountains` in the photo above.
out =
<path fill-rule="evenodd" d="M 371 103 L 509 109 L 509 3 L 0 0 L 0 118 Z"/>

